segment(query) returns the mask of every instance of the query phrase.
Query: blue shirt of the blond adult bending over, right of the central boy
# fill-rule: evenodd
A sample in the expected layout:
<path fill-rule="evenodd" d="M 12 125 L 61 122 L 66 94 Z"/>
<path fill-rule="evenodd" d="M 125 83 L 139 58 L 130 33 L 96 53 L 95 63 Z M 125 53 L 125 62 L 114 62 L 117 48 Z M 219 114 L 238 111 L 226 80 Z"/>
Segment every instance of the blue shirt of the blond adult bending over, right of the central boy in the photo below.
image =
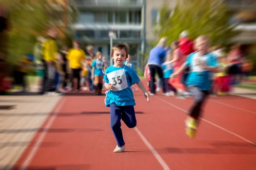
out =
<path fill-rule="evenodd" d="M 160 46 L 155 46 L 149 52 L 148 64 L 161 66 L 166 58 L 166 50 Z"/>

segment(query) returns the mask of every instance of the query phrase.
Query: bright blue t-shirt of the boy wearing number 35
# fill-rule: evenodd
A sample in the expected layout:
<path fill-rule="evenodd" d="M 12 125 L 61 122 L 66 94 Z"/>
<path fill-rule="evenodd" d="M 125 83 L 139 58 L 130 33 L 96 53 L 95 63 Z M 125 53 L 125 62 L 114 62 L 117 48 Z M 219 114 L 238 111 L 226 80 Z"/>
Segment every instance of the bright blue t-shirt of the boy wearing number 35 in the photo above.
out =
<path fill-rule="evenodd" d="M 113 65 L 111 65 L 105 71 L 106 73 L 104 75 L 105 82 L 109 84 L 109 80 L 107 77 L 108 73 L 111 73 L 112 71 L 121 70 L 121 69 L 125 70 L 125 76 L 126 76 L 128 88 L 125 88 L 120 91 L 108 91 L 106 96 L 107 107 L 110 107 L 110 104 L 112 103 L 115 103 L 118 106 L 136 105 L 133 91 L 131 90 L 131 88 L 129 88 L 131 87 L 131 85 L 134 85 L 140 81 L 140 78 L 138 77 L 135 70 L 125 65 L 123 67 L 114 67 Z"/>

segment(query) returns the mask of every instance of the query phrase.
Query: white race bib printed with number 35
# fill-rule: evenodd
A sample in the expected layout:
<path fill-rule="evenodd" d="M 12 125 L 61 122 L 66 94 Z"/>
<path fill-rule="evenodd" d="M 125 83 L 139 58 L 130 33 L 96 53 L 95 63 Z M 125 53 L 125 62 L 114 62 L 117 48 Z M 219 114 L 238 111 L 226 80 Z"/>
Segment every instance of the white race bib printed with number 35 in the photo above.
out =
<path fill-rule="evenodd" d="M 113 89 L 112 91 L 120 91 L 125 88 L 128 88 L 124 69 L 108 73 L 107 77 L 108 77 L 109 83 L 114 84 L 112 86 L 112 89 Z"/>

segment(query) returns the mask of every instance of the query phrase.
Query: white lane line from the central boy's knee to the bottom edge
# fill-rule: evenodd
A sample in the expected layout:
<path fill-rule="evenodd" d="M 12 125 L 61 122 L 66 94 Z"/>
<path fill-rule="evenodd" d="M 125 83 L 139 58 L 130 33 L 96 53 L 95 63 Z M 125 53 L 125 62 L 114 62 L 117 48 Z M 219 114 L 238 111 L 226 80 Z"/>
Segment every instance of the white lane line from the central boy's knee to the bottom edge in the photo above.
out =
<path fill-rule="evenodd" d="M 170 170 L 166 162 L 161 158 L 161 156 L 157 153 L 157 151 L 154 149 L 154 147 L 148 142 L 148 140 L 143 136 L 143 134 L 140 132 L 140 130 L 137 127 L 134 127 L 135 131 L 138 133 L 142 141 L 145 143 L 145 145 L 148 147 L 148 149 L 153 153 L 154 157 L 157 159 L 157 161 L 161 164 L 164 170 Z"/>

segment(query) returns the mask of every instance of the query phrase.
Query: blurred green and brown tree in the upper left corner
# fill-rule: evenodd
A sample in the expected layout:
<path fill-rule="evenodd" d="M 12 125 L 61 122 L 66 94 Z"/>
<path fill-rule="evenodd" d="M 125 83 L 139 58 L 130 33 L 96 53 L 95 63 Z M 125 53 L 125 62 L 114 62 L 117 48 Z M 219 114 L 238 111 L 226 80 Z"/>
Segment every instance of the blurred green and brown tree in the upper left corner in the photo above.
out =
<path fill-rule="evenodd" d="M 9 10 L 7 61 L 13 65 L 24 54 L 32 54 L 36 37 L 46 36 L 49 27 L 59 31 L 61 41 L 69 40 L 73 36 L 70 23 L 76 21 L 78 14 L 69 1 L 0 0 Z"/>

